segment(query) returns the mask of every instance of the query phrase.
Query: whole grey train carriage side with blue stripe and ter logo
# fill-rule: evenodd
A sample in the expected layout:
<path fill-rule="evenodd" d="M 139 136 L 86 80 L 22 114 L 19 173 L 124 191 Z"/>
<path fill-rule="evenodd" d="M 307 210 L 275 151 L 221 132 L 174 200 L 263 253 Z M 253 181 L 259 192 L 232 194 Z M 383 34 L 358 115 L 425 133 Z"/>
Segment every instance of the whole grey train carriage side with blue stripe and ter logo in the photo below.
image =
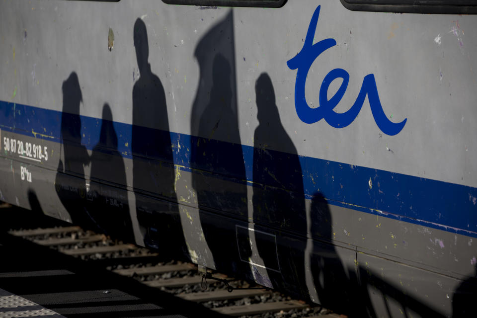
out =
<path fill-rule="evenodd" d="M 0 200 L 357 315 L 466 314 L 476 16 L 342 2 L 376 9 L 0 2 Z"/>

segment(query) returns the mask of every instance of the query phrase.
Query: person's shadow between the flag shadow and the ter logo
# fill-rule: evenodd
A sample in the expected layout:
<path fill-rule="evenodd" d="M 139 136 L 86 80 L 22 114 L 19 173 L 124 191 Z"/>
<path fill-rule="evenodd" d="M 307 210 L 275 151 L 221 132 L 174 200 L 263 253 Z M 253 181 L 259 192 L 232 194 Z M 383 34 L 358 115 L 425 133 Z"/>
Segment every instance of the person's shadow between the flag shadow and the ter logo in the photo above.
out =
<path fill-rule="evenodd" d="M 302 167 L 297 150 L 281 123 L 268 74 L 262 73 L 256 80 L 255 94 L 258 127 L 253 138 L 253 222 L 257 226 L 307 233 Z M 272 286 L 278 286 L 283 277 L 287 277 L 293 279 L 289 281 L 293 286 L 305 288 L 306 242 L 277 242 L 277 250 L 269 235 L 254 233 Z"/>

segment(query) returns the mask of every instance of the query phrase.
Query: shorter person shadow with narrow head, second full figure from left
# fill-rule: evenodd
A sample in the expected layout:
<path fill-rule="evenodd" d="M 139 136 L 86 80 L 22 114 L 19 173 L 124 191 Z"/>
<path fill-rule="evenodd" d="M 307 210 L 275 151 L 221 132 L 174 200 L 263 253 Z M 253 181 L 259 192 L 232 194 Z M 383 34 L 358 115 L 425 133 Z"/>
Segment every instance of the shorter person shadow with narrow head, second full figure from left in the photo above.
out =
<path fill-rule="evenodd" d="M 124 160 L 118 151 L 118 137 L 108 104 L 103 106 L 99 141 L 91 154 L 90 189 L 87 210 L 97 228 L 114 238 L 134 242 L 129 214 Z M 104 181 L 118 186 L 106 186 Z"/>

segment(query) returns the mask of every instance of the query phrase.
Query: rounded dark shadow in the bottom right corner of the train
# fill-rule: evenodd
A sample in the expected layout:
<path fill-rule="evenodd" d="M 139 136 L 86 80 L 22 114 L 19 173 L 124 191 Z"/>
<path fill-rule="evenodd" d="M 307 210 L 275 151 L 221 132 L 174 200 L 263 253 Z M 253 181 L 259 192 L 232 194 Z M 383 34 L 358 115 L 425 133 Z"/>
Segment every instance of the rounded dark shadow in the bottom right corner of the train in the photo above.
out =
<path fill-rule="evenodd" d="M 474 305 L 477 301 L 477 263 L 474 270 L 474 277 L 463 281 L 454 292 L 452 317 L 473 317 L 476 314 Z"/>

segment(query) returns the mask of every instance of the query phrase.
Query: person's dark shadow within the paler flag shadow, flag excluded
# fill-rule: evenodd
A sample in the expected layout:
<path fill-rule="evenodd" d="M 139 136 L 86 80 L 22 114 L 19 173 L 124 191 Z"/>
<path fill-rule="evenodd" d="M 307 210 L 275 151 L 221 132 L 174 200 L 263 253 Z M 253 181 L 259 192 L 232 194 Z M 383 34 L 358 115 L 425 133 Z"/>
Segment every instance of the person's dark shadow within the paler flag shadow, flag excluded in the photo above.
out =
<path fill-rule="evenodd" d="M 226 137 L 240 140 L 235 95 L 231 87 L 231 66 L 222 55 L 217 54 L 212 66 L 212 88 L 210 101 L 200 117 L 199 136 Z M 245 179 L 245 165 L 243 153 L 239 143 L 223 143 L 210 138 L 200 138 L 198 143 L 191 145 L 191 161 L 196 167 L 206 171 L 236 177 L 239 181 Z M 235 175 L 234 175 L 235 174 Z M 239 214 L 242 218 L 246 215 L 247 190 L 244 183 L 235 183 L 233 188 L 220 183 L 216 178 L 211 179 L 207 174 L 196 173 L 193 176 L 193 187 L 197 193 L 199 208 L 220 209 L 224 212 Z M 207 244 L 212 251 L 216 266 L 224 268 L 230 263 L 231 244 L 237 242 L 235 229 L 224 231 L 221 239 L 217 239 L 220 231 L 217 224 L 211 224 L 207 216 L 200 215 L 202 229 Z M 236 246 L 235 244 L 233 246 Z M 234 256 L 238 255 L 235 254 Z M 222 259 L 222 260 L 221 260 Z"/>

